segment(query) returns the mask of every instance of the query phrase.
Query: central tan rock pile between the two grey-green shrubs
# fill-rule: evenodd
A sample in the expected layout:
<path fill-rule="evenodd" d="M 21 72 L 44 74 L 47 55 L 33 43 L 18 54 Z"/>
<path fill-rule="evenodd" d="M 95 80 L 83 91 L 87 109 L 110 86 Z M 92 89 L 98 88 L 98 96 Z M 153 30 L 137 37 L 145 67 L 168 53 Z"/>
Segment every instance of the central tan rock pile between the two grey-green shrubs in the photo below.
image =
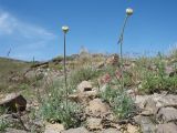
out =
<path fill-rule="evenodd" d="M 69 96 L 84 106 L 85 127 L 64 130 L 61 124 L 46 124 L 45 133 L 136 133 L 138 127 L 132 125 L 119 125 L 107 103 L 98 98 L 98 90 L 88 81 L 77 85 L 75 94 Z"/>

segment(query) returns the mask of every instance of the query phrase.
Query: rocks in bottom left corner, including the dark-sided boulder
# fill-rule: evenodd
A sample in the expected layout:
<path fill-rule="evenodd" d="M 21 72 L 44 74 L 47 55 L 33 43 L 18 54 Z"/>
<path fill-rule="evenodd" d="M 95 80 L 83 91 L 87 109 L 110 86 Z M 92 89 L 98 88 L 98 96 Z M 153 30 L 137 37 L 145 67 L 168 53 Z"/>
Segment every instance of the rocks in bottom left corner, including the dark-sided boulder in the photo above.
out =
<path fill-rule="evenodd" d="M 28 101 L 20 93 L 10 93 L 1 96 L 0 108 L 4 112 L 1 112 L 0 122 L 1 124 L 7 124 L 6 133 L 27 133 L 32 129 L 37 133 L 42 131 L 41 120 L 30 120 L 28 104 Z M 0 132 L 2 132 L 1 130 Z"/>

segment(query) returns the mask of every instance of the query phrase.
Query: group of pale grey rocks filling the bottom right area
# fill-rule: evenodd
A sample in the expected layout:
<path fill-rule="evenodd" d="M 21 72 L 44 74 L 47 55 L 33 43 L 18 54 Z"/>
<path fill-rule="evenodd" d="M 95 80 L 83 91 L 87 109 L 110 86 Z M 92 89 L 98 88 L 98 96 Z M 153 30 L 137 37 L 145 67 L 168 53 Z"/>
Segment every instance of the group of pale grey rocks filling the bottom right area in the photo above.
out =
<path fill-rule="evenodd" d="M 137 95 L 142 113 L 134 117 L 143 133 L 177 133 L 177 95 Z"/>

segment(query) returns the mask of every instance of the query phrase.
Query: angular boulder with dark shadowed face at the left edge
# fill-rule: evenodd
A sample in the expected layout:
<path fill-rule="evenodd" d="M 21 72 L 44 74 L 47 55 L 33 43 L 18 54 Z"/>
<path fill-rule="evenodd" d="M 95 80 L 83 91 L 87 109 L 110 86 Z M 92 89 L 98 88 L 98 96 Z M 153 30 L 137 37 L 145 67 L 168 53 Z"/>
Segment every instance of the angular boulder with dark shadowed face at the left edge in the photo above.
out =
<path fill-rule="evenodd" d="M 12 112 L 24 111 L 27 100 L 20 93 L 10 93 L 1 99 L 0 106 L 3 106 Z"/>

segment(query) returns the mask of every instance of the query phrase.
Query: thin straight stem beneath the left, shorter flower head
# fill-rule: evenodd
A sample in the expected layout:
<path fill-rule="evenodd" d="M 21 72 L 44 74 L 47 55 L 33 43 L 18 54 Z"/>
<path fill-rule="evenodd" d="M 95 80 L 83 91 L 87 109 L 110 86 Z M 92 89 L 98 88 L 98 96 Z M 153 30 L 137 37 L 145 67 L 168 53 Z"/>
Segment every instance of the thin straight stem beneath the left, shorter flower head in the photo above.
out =
<path fill-rule="evenodd" d="M 65 84 L 65 99 L 66 99 L 66 106 L 67 106 L 67 73 L 66 73 L 66 55 L 65 55 L 65 33 L 64 33 L 64 84 Z"/>

